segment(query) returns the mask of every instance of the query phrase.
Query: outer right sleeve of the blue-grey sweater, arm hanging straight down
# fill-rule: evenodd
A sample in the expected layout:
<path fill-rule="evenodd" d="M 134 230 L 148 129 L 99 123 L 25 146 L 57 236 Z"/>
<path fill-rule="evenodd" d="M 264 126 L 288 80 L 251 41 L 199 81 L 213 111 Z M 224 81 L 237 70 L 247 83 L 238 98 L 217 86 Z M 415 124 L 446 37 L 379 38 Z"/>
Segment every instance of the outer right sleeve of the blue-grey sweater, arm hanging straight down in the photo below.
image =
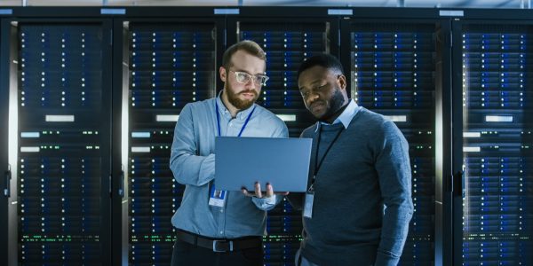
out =
<path fill-rule="evenodd" d="M 376 170 L 386 208 L 375 265 L 394 266 L 400 261 L 413 214 L 409 145 L 392 121 L 383 126 Z"/>

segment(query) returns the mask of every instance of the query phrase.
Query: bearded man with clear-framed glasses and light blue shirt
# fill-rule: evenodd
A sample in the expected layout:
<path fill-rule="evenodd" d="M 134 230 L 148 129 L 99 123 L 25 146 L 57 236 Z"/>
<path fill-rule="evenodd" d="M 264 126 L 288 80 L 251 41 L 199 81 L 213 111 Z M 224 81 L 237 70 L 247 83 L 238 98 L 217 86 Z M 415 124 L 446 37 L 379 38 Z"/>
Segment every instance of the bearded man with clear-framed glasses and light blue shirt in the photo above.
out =
<path fill-rule="evenodd" d="M 265 194 L 259 184 L 255 195 L 219 191 L 213 178 L 215 137 L 288 137 L 285 123 L 255 104 L 268 80 L 265 68 L 257 43 L 235 43 L 219 67 L 224 90 L 217 98 L 187 104 L 179 114 L 170 163 L 186 188 L 172 216 L 178 234 L 171 265 L 263 265 L 266 210 L 281 197 L 271 185 Z"/>

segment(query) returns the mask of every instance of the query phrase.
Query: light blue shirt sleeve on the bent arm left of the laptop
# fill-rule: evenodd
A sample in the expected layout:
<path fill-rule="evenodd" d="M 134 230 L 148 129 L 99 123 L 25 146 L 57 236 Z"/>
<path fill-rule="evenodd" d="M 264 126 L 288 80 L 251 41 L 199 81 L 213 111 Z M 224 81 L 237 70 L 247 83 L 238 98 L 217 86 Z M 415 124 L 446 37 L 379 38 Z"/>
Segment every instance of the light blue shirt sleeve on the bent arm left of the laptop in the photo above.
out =
<path fill-rule="evenodd" d="M 171 171 L 179 184 L 201 186 L 215 176 L 215 154 L 198 156 L 191 106 L 179 113 L 171 147 Z"/>

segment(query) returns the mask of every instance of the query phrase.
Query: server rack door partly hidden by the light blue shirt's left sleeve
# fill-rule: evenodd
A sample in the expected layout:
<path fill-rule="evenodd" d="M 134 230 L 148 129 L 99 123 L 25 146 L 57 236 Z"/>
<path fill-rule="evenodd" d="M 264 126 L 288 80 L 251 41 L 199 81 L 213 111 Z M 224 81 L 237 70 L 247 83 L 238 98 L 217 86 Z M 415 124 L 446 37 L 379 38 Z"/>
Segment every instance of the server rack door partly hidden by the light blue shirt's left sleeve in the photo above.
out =
<path fill-rule="evenodd" d="M 124 25 L 127 95 L 127 254 L 131 265 L 171 262 L 171 217 L 184 186 L 169 166 L 173 130 L 189 102 L 216 96 L 219 22 L 130 21 Z M 128 117 L 129 116 L 129 117 Z M 124 212 L 125 213 L 125 212 Z M 125 226 L 125 225 L 124 225 Z"/>

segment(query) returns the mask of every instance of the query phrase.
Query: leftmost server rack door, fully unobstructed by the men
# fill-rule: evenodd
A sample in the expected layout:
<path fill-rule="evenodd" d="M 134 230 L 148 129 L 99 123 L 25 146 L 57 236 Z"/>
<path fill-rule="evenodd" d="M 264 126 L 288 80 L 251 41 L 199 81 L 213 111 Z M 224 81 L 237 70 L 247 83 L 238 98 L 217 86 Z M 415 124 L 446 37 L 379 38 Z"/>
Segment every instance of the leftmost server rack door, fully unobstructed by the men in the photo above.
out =
<path fill-rule="evenodd" d="M 108 263 L 109 26 L 12 21 L 19 264 Z"/>

